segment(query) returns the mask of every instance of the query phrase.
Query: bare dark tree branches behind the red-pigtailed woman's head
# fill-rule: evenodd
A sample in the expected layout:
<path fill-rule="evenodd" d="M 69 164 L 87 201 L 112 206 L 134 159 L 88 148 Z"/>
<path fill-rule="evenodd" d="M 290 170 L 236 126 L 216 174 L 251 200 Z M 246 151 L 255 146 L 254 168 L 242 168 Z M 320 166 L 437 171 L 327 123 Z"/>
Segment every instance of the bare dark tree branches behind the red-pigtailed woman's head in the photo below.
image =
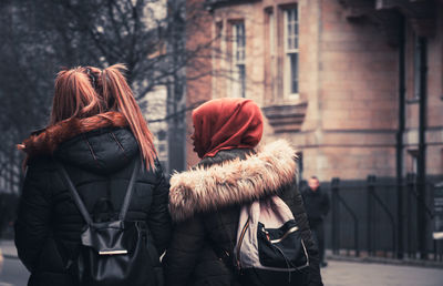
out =
<path fill-rule="evenodd" d="M 167 86 L 168 113 L 153 122 L 183 122 L 195 106 L 185 106 L 185 82 L 214 75 L 205 62 L 224 57 L 214 49 L 219 35 L 204 44 L 186 44 L 186 31 L 202 32 L 205 14 L 200 3 L 185 0 L 1 1 L 0 127 L 8 135 L 0 146 L 0 166 L 20 172 L 21 160 L 12 161 L 8 152 L 48 122 L 53 80 L 61 67 L 126 63 L 136 99 Z"/>

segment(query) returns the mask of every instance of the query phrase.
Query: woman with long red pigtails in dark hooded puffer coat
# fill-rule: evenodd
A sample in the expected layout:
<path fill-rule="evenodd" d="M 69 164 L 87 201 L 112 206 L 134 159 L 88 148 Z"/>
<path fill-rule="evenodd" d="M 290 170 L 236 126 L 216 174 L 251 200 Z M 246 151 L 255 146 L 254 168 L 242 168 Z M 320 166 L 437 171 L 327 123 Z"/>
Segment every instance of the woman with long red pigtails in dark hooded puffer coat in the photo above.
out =
<path fill-rule="evenodd" d="M 60 164 L 95 223 L 115 219 L 135 170 L 125 221 L 147 225 L 152 261 L 145 267 L 156 274 L 148 285 L 163 279 L 159 255 L 171 233 L 168 183 L 124 70 L 115 64 L 60 71 L 49 126 L 18 145 L 27 153 L 27 174 L 16 245 L 31 272 L 29 285 L 78 285 L 69 266 L 79 256 L 85 222 Z"/>

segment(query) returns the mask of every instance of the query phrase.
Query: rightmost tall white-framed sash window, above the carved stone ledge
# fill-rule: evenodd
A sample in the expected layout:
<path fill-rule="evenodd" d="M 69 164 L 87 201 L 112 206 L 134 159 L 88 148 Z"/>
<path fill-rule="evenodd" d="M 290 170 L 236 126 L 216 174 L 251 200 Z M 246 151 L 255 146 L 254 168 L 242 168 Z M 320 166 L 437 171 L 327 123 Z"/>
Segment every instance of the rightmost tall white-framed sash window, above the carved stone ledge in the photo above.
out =
<path fill-rule="evenodd" d="M 285 94 L 298 96 L 298 9 L 285 9 L 284 19 L 285 47 Z"/>

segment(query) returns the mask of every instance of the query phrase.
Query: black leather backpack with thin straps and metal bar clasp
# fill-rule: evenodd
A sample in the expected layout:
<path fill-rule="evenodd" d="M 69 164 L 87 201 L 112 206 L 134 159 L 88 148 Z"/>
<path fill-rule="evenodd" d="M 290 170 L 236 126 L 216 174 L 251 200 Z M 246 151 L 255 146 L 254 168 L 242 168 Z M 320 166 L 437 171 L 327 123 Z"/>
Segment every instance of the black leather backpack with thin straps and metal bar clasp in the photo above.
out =
<path fill-rule="evenodd" d="M 147 225 L 125 221 L 135 177 L 136 160 L 119 218 L 94 223 L 75 190 L 66 170 L 58 163 L 70 193 L 86 225 L 81 234 L 79 256 L 70 262 L 69 272 L 82 286 L 159 285 L 147 248 Z"/>

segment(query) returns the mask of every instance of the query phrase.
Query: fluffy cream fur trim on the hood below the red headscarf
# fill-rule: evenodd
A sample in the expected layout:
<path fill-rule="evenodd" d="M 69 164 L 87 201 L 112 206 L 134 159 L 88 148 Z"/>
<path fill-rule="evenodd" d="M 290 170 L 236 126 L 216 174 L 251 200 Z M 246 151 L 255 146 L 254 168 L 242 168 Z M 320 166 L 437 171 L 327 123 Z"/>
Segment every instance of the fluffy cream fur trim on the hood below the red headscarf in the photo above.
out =
<path fill-rule="evenodd" d="M 276 194 L 293 182 L 296 151 L 287 141 L 266 145 L 246 160 L 176 173 L 171 178 L 169 212 L 174 221 Z"/>

